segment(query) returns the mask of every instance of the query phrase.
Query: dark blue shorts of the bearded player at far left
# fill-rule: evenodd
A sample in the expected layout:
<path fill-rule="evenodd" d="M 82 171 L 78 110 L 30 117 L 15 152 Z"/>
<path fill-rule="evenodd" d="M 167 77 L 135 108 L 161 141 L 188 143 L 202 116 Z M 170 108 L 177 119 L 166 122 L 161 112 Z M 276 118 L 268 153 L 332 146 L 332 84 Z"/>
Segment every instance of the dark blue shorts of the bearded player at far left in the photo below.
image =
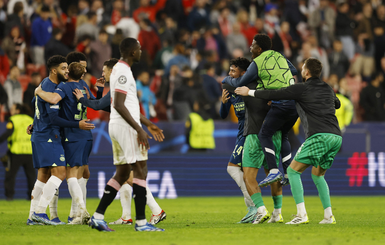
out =
<path fill-rule="evenodd" d="M 61 142 L 33 142 L 33 167 L 65 166 L 64 149 Z"/>

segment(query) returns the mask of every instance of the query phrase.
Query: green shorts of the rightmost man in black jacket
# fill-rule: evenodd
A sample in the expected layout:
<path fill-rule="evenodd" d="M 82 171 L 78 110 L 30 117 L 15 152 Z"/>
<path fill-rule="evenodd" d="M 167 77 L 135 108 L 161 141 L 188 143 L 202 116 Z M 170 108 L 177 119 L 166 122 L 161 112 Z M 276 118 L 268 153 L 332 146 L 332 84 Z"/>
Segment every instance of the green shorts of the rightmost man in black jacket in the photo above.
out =
<path fill-rule="evenodd" d="M 314 134 L 300 146 L 294 160 L 314 167 L 330 169 L 341 143 L 341 136 L 325 133 Z"/>

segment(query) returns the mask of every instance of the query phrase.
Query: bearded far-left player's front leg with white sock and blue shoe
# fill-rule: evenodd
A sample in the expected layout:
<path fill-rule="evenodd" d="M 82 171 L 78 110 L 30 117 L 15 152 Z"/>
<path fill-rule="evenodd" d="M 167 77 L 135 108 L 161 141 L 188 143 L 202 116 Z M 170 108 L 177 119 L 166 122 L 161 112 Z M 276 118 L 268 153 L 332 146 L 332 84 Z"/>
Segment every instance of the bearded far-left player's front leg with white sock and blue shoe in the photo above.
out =
<path fill-rule="evenodd" d="M 47 180 L 47 184 L 44 185 L 39 205 L 36 208 L 37 211 L 33 213 L 32 220 L 46 225 L 57 225 L 56 222 L 52 222 L 48 219 L 45 210 L 59 189 L 60 184 L 65 179 L 66 173 L 64 166 L 49 167 L 49 169 L 51 177 Z"/>

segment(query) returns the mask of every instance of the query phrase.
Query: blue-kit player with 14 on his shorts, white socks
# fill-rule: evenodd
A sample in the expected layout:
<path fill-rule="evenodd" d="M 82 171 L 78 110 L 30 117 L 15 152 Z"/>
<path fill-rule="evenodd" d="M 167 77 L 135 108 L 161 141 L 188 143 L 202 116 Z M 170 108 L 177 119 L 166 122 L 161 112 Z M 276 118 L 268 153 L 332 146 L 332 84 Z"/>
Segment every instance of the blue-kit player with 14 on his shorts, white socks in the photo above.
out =
<path fill-rule="evenodd" d="M 249 65 L 250 61 L 246 58 L 238 57 L 234 60 L 231 60 L 229 76 L 232 78 L 239 78 L 246 72 Z M 251 197 L 247 192 L 246 184 L 243 180 L 243 171 L 241 169 L 243 145 L 246 139 L 246 136 L 243 136 L 243 126 L 245 121 L 244 102 L 241 96 L 234 93 L 229 93 L 226 89 L 223 89 L 222 104 L 221 109 L 219 109 L 219 115 L 222 119 L 225 119 L 228 116 L 231 105 L 234 106 L 235 115 L 238 118 L 239 131 L 235 142 L 235 149 L 231 154 L 229 163 L 227 165 L 227 172 L 241 189 L 244 196 L 244 203 L 246 204 L 248 210 L 248 213 L 238 223 L 251 223 L 253 222 L 254 215 L 257 213 L 257 208 L 255 207 L 253 200 L 251 200 Z"/>

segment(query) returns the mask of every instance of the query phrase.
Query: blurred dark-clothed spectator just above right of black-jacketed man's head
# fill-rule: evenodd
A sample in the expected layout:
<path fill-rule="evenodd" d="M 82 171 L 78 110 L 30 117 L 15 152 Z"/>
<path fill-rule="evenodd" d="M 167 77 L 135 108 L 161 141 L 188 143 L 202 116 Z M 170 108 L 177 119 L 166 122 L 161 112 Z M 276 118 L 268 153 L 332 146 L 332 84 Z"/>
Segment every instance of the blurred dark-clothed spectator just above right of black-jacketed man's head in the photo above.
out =
<path fill-rule="evenodd" d="M 345 76 L 350 63 L 348 57 L 342 52 L 340 40 L 333 41 L 333 51 L 329 54 L 330 73 L 338 75 L 338 78 Z"/>

